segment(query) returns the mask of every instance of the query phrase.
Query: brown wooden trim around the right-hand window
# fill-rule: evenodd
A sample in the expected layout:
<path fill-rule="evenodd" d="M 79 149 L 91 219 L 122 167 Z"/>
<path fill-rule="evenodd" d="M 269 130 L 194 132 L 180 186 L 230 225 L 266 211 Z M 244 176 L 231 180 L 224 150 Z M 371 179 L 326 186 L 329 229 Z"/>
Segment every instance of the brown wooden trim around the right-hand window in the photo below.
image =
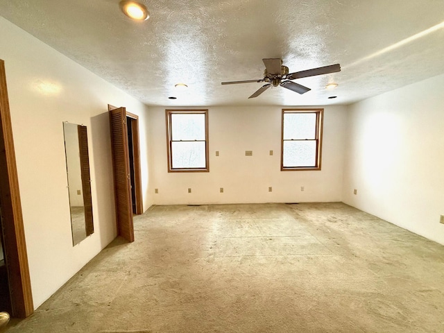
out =
<path fill-rule="evenodd" d="M 316 113 L 316 165 L 314 167 L 284 167 L 284 114 L 289 113 Z M 282 109 L 281 123 L 281 149 L 280 149 L 280 170 L 281 171 L 320 171 L 322 157 L 323 138 L 323 108 L 303 108 L 303 109 Z M 287 141 L 287 140 L 286 140 Z"/>

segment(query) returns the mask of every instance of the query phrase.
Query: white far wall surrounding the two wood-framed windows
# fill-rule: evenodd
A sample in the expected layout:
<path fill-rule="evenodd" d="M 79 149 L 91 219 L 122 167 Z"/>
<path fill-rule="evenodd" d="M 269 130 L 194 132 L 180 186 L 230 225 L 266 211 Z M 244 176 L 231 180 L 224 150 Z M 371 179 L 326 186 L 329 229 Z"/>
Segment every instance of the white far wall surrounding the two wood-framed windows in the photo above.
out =
<path fill-rule="evenodd" d="M 155 204 L 341 201 L 345 107 L 325 107 L 321 171 L 280 171 L 281 107 L 208 110 L 210 172 L 168 173 L 165 108 L 150 108 Z M 246 150 L 253 156 L 245 156 Z"/>

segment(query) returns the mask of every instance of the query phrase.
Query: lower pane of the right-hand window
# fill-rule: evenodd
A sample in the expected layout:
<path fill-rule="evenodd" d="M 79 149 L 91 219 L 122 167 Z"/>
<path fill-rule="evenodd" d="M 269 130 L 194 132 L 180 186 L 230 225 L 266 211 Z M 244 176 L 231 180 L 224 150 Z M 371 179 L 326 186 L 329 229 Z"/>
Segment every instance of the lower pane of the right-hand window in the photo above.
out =
<path fill-rule="evenodd" d="M 284 167 L 316 167 L 316 140 L 285 141 Z"/>

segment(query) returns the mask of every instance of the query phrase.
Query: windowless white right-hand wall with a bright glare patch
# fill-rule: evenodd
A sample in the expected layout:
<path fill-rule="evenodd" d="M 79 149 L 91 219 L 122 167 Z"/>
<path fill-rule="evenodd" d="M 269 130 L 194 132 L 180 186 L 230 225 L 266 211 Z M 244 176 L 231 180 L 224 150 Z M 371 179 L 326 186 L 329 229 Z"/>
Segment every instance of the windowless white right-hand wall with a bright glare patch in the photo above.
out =
<path fill-rule="evenodd" d="M 351 105 L 343 187 L 345 203 L 441 244 L 443 87 L 441 75 Z"/>

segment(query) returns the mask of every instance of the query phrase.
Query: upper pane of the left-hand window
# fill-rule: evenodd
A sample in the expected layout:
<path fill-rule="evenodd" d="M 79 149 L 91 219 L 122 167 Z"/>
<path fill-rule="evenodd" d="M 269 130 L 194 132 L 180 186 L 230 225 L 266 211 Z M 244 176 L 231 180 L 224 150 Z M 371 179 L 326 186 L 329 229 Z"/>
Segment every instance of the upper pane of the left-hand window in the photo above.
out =
<path fill-rule="evenodd" d="M 171 114 L 171 135 L 176 140 L 205 140 L 205 114 Z"/>

